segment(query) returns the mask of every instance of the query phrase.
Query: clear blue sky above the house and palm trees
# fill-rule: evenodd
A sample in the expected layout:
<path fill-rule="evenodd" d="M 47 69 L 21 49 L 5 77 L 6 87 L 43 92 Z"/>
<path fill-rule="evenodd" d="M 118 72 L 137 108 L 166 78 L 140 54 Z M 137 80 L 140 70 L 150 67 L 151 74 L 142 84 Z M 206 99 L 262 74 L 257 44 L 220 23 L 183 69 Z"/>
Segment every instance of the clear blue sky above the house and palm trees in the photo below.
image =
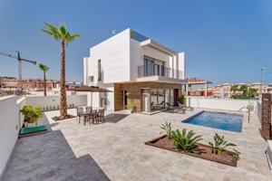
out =
<path fill-rule="evenodd" d="M 0 47 L 50 66 L 59 78 L 60 43 L 40 32 L 65 23 L 80 39 L 69 44 L 66 78 L 83 80 L 89 48 L 131 27 L 176 52 L 186 52 L 187 76 L 220 82 L 272 82 L 272 1 L 33 1 L 0 0 Z M 15 60 L 0 56 L 0 76 L 16 76 Z M 42 78 L 24 63 L 24 78 Z"/>

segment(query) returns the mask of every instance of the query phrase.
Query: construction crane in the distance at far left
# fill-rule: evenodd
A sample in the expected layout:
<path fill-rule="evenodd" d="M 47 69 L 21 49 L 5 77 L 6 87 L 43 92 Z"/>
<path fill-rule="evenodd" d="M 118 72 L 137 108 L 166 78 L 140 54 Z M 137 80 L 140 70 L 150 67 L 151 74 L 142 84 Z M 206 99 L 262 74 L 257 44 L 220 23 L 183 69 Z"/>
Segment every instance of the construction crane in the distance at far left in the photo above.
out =
<path fill-rule="evenodd" d="M 9 52 L 16 52 L 17 53 L 17 56 L 15 56 L 13 54 L 6 53 L 6 52 L 0 52 L 0 55 L 3 55 L 5 57 L 9 57 L 9 58 L 13 58 L 13 59 L 17 60 L 17 62 L 18 62 L 18 90 L 23 90 L 23 84 L 22 84 L 22 62 L 31 62 L 34 65 L 37 62 L 21 58 L 19 51 L 11 51 L 11 50 L 7 50 L 7 49 L 4 49 L 4 50 L 5 51 L 9 51 Z"/>

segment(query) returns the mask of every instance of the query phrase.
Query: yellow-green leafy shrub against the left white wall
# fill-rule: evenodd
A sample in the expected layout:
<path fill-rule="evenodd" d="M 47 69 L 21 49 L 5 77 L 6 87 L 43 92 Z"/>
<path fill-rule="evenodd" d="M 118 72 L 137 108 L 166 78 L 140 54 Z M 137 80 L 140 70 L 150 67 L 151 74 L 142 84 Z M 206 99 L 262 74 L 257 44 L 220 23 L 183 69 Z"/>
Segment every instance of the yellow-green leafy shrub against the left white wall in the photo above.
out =
<path fill-rule="evenodd" d="M 43 117 L 42 110 L 31 105 L 24 105 L 21 112 L 24 115 L 24 122 L 27 123 L 37 123 L 38 119 Z"/>

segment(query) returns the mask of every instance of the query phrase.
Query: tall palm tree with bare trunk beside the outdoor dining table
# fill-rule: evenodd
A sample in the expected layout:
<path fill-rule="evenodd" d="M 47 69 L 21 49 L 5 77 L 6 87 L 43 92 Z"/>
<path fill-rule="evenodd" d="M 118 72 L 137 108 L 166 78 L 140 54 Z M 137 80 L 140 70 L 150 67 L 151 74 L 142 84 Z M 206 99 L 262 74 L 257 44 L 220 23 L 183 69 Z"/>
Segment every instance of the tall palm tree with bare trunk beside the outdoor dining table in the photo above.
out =
<path fill-rule="evenodd" d="M 73 42 L 74 39 L 80 37 L 79 34 L 69 33 L 65 25 L 59 27 L 53 24 L 44 23 L 44 29 L 42 32 L 53 37 L 56 41 L 62 43 L 62 58 L 61 58 L 61 99 L 60 99 L 60 119 L 67 118 L 67 103 L 66 103 L 66 90 L 65 90 L 65 45 Z"/>

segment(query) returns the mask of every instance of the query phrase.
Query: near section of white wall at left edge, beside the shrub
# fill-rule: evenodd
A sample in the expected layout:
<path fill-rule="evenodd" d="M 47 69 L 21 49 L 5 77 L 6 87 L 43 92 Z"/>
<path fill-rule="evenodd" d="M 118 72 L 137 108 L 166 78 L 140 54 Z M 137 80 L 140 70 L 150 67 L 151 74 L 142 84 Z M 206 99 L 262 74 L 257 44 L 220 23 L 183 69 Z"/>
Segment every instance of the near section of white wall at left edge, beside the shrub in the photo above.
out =
<path fill-rule="evenodd" d="M 18 138 L 19 108 L 16 100 L 16 96 L 0 98 L 0 180 Z"/>

